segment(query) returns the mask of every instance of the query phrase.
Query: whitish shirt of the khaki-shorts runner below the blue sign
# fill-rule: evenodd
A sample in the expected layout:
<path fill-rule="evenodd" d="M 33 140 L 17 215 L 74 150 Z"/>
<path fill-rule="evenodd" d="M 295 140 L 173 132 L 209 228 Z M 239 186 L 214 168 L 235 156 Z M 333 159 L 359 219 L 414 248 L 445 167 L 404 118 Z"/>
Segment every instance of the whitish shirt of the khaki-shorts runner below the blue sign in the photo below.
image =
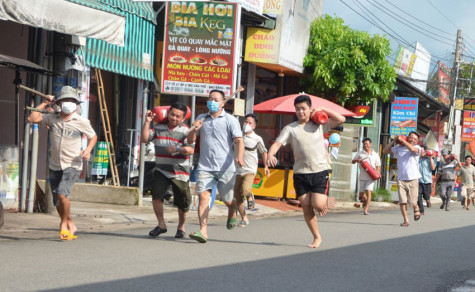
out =
<path fill-rule="evenodd" d="M 415 145 L 417 153 L 411 152 L 406 146 L 395 146 L 391 151 L 397 158 L 397 179 L 414 180 L 421 178 L 419 171 L 419 157 L 422 153 L 421 147 Z"/>

